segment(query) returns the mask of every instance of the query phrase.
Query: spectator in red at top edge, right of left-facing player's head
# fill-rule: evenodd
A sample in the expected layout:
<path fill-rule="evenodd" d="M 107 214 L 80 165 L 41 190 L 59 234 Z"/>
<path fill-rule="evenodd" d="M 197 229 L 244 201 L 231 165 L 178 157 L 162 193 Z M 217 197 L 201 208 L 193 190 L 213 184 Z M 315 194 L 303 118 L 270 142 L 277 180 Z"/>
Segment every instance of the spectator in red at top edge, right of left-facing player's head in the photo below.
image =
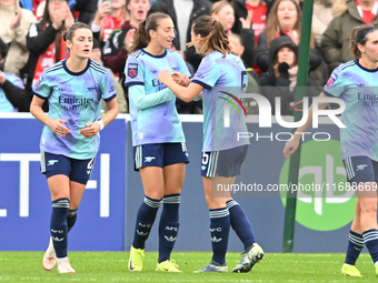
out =
<path fill-rule="evenodd" d="M 257 44 L 260 33 L 266 28 L 268 6 L 263 0 L 235 0 L 232 2 L 235 11 L 235 23 L 231 31 L 240 34 L 242 21 L 251 13 L 251 24 L 255 31 L 255 43 Z"/>

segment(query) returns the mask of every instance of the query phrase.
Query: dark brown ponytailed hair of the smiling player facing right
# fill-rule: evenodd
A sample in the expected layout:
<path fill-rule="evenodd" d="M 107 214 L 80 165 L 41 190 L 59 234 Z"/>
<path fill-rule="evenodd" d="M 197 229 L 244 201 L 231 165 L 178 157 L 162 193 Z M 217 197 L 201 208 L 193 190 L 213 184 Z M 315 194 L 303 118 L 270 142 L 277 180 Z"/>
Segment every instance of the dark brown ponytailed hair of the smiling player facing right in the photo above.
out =
<path fill-rule="evenodd" d="M 138 30 L 135 33 L 135 40 L 130 48 L 130 53 L 146 48 L 150 43 L 150 30 L 157 31 L 159 22 L 162 19 L 170 18 L 166 13 L 155 12 L 151 13 L 145 21 L 139 23 Z"/>

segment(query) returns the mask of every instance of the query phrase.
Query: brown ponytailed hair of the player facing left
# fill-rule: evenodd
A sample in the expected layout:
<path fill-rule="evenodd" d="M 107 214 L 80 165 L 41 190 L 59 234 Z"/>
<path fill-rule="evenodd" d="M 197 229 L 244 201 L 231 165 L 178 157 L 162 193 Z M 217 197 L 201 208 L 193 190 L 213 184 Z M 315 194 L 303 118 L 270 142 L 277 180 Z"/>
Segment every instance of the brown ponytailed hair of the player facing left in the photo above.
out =
<path fill-rule="evenodd" d="M 192 30 L 195 34 L 200 34 L 201 39 L 187 43 L 192 47 L 196 43 L 200 44 L 200 50 L 197 53 L 207 55 L 213 50 L 217 50 L 226 57 L 226 52 L 237 54 L 228 40 L 223 26 L 210 16 L 201 16 L 193 21 Z"/>

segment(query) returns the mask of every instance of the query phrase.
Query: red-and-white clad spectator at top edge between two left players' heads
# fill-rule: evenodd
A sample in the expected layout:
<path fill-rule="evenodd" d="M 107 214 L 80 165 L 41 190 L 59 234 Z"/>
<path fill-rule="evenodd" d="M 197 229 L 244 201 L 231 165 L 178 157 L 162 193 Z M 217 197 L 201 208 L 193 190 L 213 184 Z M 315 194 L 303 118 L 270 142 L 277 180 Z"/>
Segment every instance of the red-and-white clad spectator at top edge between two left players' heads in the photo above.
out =
<path fill-rule="evenodd" d="M 111 4 L 110 4 L 111 3 Z M 126 0 L 112 0 L 101 2 L 94 20 L 91 24 L 93 37 L 100 41 L 101 47 L 108 40 L 110 33 L 122 27 L 127 20 Z"/>

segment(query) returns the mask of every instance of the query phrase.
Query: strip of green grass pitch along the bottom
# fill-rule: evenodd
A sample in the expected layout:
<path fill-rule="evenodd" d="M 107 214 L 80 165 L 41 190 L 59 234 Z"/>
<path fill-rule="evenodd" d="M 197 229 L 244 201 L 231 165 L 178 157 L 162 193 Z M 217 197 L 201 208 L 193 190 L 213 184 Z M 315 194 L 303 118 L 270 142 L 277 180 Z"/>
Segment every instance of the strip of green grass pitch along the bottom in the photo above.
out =
<path fill-rule="evenodd" d="M 183 272 L 155 272 L 157 253 L 146 253 L 142 272 L 129 272 L 127 252 L 70 252 L 76 274 L 58 274 L 57 267 L 42 269 L 42 252 L 0 252 L 0 282 L 374 282 L 374 264 L 369 254 L 361 254 L 357 267 L 362 279 L 344 277 L 340 267 L 345 254 L 266 254 L 266 259 L 245 274 L 192 274 L 210 260 L 210 253 L 175 252 L 172 259 Z M 228 253 L 229 270 L 240 254 Z"/>

